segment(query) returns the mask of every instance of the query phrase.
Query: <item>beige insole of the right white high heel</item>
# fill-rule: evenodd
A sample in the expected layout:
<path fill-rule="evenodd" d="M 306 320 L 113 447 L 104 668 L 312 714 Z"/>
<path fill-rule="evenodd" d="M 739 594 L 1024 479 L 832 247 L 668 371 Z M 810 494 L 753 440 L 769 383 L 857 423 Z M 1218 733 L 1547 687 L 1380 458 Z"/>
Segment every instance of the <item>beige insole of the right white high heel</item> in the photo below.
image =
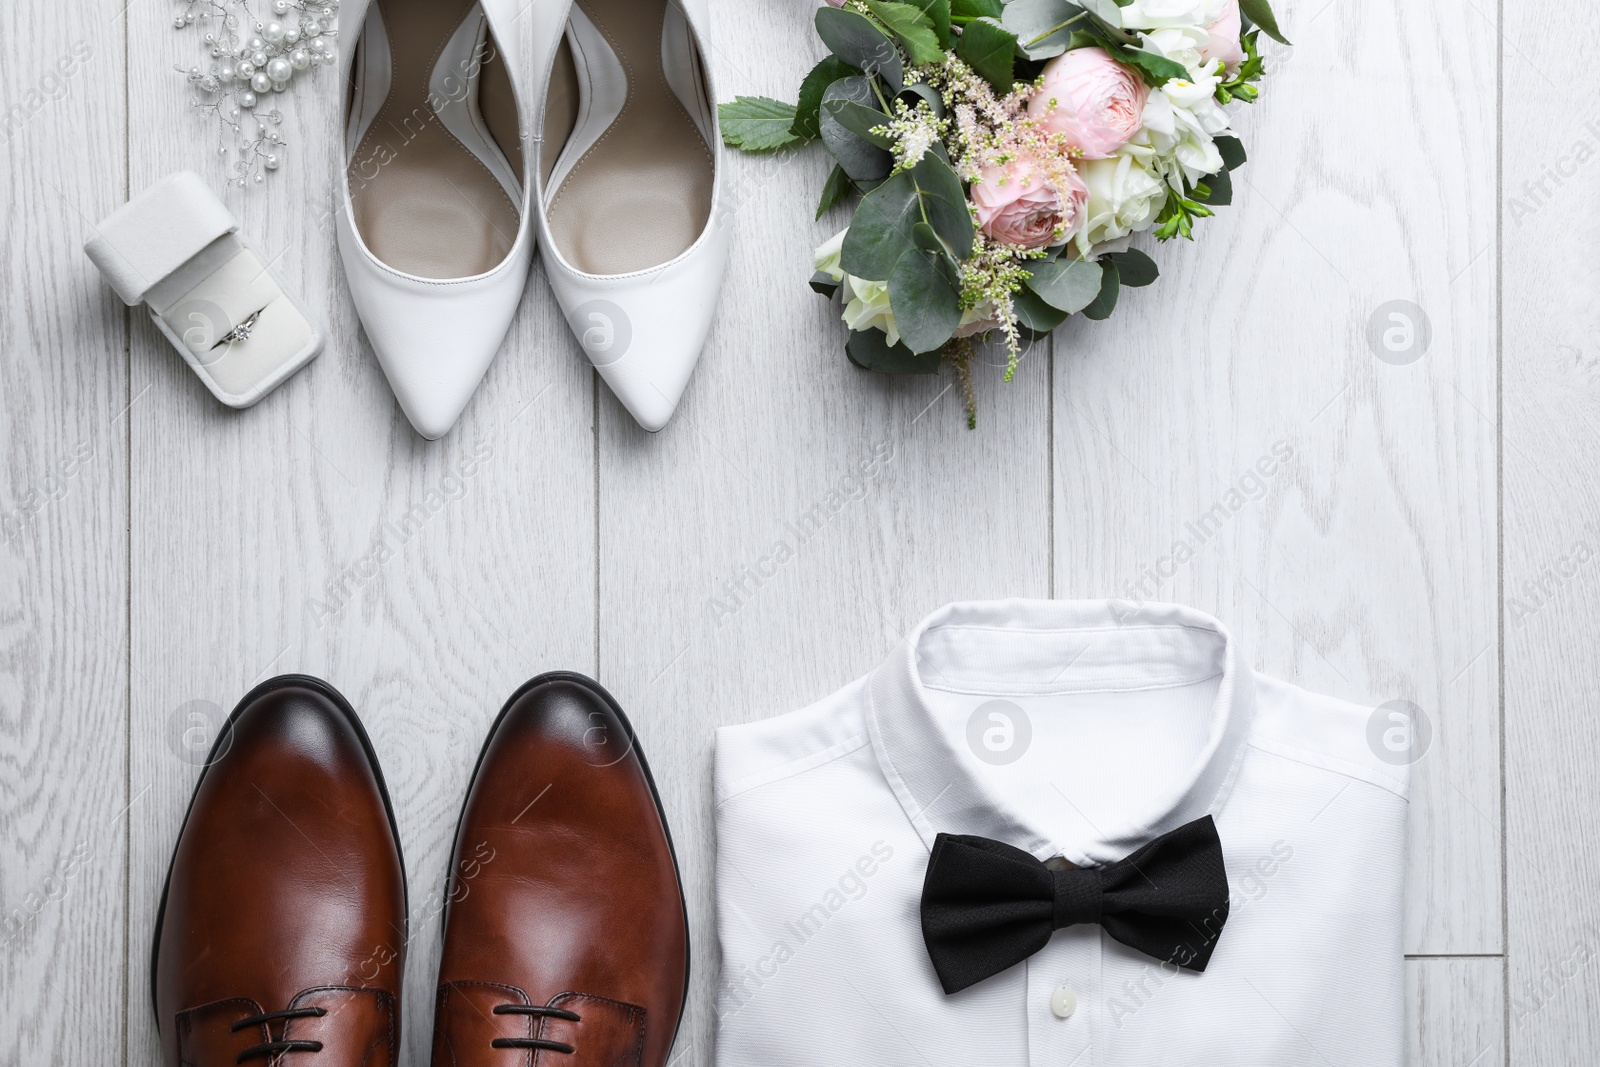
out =
<path fill-rule="evenodd" d="M 587 274 L 627 274 L 683 253 L 710 218 L 712 157 L 661 69 L 666 0 L 581 0 L 624 70 L 627 101 L 549 203 L 562 258 Z M 563 45 L 565 48 L 565 45 Z M 570 59 L 552 77 L 547 136 L 571 130 Z M 565 141 L 565 138 L 562 138 Z"/>

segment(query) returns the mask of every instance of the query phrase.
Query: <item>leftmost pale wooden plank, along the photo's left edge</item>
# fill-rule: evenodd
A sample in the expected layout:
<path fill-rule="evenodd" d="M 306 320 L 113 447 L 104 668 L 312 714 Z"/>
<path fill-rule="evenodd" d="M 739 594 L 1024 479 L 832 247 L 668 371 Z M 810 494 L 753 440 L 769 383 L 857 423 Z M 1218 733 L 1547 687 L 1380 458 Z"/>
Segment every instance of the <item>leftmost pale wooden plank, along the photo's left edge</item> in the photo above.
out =
<path fill-rule="evenodd" d="M 123 195 L 110 14 L 0 8 L 0 1059 L 19 1064 L 123 1053 L 126 312 L 82 253 Z"/>

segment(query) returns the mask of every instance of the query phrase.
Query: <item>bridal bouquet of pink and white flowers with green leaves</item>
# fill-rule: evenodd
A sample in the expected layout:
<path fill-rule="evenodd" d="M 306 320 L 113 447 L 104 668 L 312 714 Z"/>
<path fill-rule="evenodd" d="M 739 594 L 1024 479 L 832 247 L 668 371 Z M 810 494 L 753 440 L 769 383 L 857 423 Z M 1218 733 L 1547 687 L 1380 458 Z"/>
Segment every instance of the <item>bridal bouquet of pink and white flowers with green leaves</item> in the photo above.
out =
<path fill-rule="evenodd" d="M 1254 101 L 1269 0 L 827 0 L 798 104 L 736 98 L 723 139 L 821 139 L 816 216 L 854 197 L 811 288 L 843 304 L 845 352 L 883 373 L 949 358 L 974 421 L 973 339 L 1106 318 L 1155 280 L 1134 234 L 1194 238 L 1245 162 L 1227 106 Z M 1286 42 L 1285 42 L 1286 43 Z"/>

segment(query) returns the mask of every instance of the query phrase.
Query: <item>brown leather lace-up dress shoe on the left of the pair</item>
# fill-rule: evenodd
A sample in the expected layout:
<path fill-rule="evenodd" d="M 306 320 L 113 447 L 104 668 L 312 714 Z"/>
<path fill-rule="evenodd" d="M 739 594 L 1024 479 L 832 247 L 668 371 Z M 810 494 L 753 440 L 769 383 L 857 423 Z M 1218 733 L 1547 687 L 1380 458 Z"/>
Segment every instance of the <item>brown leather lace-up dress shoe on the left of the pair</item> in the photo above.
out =
<path fill-rule="evenodd" d="M 218 736 L 166 872 L 150 985 L 170 1067 L 398 1061 L 405 865 L 350 705 L 253 689 Z"/>

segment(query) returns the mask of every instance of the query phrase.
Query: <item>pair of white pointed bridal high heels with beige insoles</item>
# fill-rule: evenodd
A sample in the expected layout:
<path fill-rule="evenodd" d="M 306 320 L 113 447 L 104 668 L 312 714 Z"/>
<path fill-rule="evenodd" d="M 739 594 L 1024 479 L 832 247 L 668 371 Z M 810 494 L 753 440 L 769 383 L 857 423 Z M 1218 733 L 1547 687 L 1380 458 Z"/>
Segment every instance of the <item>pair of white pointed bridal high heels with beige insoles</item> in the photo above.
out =
<path fill-rule="evenodd" d="M 707 0 L 347 0 L 339 254 L 400 408 L 443 437 L 534 243 L 566 322 L 659 430 L 728 259 Z M 530 107 L 517 85 L 531 24 Z"/>

